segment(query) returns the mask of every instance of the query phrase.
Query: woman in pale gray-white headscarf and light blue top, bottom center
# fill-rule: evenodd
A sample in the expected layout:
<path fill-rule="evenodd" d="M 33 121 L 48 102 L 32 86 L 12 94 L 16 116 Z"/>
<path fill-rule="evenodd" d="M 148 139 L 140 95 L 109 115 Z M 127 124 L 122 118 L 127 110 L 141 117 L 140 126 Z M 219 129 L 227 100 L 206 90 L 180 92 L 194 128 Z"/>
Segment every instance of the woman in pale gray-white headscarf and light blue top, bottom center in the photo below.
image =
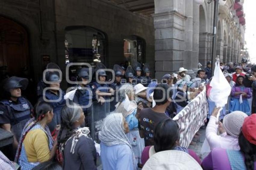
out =
<path fill-rule="evenodd" d="M 121 113 L 112 113 L 104 119 L 99 132 L 103 169 L 137 169 L 133 147 L 125 135 L 127 132 L 129 127 Z"/>

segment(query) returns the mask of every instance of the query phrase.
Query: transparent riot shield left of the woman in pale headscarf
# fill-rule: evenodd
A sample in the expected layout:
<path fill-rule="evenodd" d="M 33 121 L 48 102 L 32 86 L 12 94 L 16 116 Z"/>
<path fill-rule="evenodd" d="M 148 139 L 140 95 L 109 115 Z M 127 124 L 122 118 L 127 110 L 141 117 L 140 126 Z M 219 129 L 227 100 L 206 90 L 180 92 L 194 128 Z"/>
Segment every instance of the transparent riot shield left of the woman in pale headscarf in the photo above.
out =
<path fill-rule="evenodd" d="M 101 130 L 103 119 L 110 114 L 110 103 L 105 102 L 101 104 L 97 101 L 92 102 L 92 106 L 89 108 L 88 113 L 90 115 L 91 137 L 97 143 L 100 143 L 98 133 Z"/>

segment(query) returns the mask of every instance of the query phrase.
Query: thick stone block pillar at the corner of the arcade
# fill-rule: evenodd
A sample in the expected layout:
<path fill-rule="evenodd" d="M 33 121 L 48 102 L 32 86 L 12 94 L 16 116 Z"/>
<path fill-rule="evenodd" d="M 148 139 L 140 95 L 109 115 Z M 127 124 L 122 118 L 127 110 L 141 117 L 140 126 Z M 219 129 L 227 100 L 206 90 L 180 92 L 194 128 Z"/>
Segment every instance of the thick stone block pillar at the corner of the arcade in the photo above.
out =
<path fill-rule="evenodd" d="M 155 1 L 155 78 L 183 67 L 184 0 Z"/>

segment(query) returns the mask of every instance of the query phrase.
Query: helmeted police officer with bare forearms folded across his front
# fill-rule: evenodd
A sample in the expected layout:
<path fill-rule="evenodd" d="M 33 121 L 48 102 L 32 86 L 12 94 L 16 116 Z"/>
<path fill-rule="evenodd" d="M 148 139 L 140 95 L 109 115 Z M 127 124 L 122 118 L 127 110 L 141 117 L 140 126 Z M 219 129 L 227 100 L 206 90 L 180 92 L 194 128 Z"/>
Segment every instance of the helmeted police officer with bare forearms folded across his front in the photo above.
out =
<path fill-rule="evenodd" d="M 105 99 L 110 99 L 114 95 L 114 90 L 109 88 L 106 81 L 106 72 L 103 69 L 98 70 L 98 82 L 92 84 L 93 100 L 101 103 L 105 102 Z"/>

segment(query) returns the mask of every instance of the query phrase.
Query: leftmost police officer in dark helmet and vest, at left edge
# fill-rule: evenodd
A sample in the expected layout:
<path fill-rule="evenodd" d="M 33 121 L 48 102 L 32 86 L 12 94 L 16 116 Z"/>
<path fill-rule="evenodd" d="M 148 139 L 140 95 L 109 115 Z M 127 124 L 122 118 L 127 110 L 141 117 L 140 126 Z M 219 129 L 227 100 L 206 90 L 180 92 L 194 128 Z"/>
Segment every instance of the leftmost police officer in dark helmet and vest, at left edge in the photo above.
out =
<path fill-rule="evenodd" d="M 21 89 L 25 90 L 28 79 L 10 77 L 4 83 L 5 99 L 0 101 L 0 126 L 14 134 L 13 146 L 16 149 L 24 125 L 33 113 L 31 103 L 21 96 Z"/>

